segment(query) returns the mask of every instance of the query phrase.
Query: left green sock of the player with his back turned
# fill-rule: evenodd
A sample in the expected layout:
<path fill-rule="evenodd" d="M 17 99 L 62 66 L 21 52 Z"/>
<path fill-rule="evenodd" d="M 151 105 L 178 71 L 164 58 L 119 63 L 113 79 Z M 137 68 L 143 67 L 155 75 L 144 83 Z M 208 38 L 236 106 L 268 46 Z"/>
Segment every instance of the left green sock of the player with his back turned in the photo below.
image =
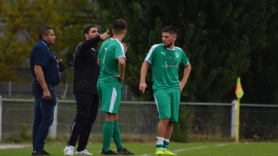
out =
<path fill-rule="evenodd" d="M 105 152 L 109 151 L 110 143 L 113 136 L 114 122 L 105 121 L 103 126 L 103 148 Z"/>

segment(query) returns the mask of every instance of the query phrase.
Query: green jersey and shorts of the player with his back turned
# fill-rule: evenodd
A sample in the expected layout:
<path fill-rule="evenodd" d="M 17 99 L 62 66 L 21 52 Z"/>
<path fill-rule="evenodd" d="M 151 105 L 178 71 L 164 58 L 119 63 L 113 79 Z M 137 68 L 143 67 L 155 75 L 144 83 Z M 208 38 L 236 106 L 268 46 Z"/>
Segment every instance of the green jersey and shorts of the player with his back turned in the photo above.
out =
<path fill-rule="evenodd" d="M 120 80 L 113 75 L 119 75 L 118 58 L 124 57 L 124 47 L 118 39 L 109 38 L 100 47 L 100 76 L 98 78 L 98 95 L 101 111 L 118 113 L 120 108 Z"/>

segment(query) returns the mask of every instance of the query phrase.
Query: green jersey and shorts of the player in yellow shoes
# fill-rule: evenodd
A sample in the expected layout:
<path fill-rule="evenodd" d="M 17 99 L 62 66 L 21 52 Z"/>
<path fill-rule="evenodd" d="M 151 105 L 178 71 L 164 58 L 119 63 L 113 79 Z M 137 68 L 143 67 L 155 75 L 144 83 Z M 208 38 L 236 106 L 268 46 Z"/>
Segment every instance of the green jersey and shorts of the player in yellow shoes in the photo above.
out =
<path fill-rule="evenodd" d="M 160 120 L 170 118 L 178 122 L 180 89 L 178 68 L 189 64 L 189 59 L 179 47 L 168 49 L 162 44 L 153 45 L 145 58 L 152 66 L 153 91 Z"/>

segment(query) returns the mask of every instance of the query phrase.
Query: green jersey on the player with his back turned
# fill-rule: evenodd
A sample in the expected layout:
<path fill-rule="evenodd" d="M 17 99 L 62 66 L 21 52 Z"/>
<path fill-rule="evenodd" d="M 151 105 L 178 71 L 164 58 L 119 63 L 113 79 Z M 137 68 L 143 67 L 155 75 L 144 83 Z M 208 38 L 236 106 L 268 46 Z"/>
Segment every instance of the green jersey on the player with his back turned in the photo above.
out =
<path fill-rule="evenodd" d="M 120 80 L 113 75 L 119 75 L 118 58 L 124 57 L 124 47 L 118 39 L 109 38 L 104 41 L 98 53 L 100 60 L 100 76 L 98 82 L 104 83 L 111 87 L 120 88 Z"/>

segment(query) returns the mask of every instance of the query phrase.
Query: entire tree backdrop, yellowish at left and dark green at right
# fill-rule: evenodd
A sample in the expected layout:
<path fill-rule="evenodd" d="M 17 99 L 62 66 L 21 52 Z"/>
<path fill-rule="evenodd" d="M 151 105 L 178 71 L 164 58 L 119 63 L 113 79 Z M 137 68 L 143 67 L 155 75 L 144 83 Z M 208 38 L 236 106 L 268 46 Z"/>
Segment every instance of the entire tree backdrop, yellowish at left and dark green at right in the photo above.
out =
<path fill-rule="evenodd" d="M 151 45 L 161 43 L 162 27 L 173 25 L 178 28 L 175 45 L 184 49 L 192 65 L 182 101 L 231 102 L 241 77 L 242 102 L 277 103 L 277 6 L 277 0 L 3 0 L 0 81 L 19 81 L 15 73 L 28 67 L 39 27 L 54 28 L 52 51 L 67 63 L 66 53 L 83 41 L 83 27 L 98 25 L 101 33 L 111 30 L 116 19 L 125 19 L 129 46 L 125 84 L 140 100 L 153 100 L 138 90 L 142 62 Z M 182 71 L 181 67 L 180 76 Z M 72 71 L 65 72 L 62 81 L 72 82 Z M 151 69 L 147 85 L 152 85 Z"/>

